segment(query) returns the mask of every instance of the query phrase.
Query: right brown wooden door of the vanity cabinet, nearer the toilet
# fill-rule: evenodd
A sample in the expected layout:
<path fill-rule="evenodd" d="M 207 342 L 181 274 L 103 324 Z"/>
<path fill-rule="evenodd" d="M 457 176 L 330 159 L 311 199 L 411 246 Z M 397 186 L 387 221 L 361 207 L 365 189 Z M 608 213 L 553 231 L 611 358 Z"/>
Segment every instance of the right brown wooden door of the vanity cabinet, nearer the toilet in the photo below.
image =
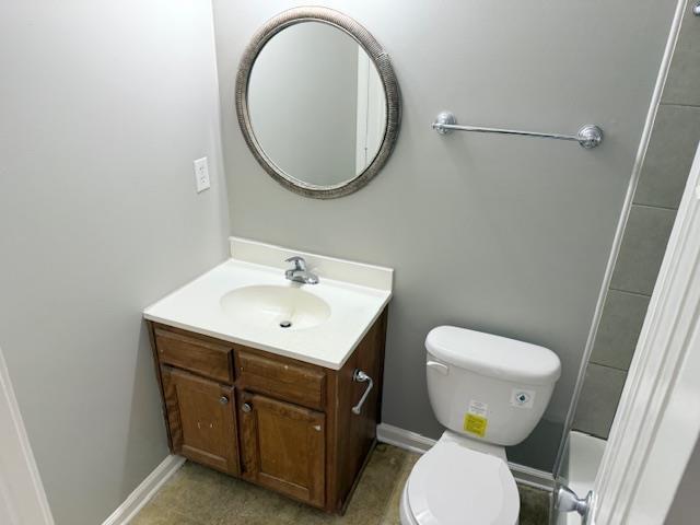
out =
<path fill-rule="evenodd" d="M 325 504 L 325 415 L 242 393 L 243 476 L 316 506 Z"/>

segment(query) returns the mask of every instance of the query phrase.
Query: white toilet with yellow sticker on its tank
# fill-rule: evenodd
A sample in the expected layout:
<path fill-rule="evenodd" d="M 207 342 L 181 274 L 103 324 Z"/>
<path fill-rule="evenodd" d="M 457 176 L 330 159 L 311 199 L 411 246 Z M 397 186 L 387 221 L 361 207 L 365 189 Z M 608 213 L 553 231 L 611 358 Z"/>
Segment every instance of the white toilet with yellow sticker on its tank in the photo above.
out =
<path fill-rule="evenodd" d="M 505 446 L 541 418 L 561 363 L 551 350 L 454 326 L 425 339 L 428 394 L 442 438 L 411 470 L 402 525 L 516 525 Z"/>

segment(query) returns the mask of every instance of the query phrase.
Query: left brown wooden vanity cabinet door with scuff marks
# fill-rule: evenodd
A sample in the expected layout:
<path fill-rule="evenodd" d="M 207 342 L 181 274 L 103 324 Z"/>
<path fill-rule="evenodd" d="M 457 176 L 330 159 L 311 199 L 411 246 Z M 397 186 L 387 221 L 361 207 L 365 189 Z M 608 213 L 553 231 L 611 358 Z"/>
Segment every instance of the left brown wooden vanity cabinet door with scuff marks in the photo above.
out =
<path fill-rule="evenodd" d="M 162 366 L 173 452 L 238 474 L 233 387 Z"/>

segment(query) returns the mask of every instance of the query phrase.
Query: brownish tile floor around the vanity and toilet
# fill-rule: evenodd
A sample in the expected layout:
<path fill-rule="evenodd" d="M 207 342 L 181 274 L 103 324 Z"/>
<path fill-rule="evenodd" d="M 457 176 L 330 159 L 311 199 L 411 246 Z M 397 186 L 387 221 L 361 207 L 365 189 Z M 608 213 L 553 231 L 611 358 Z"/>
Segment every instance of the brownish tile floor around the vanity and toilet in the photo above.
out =
<path fill-rule="evenodd" d="M 343 516 L 188 462 L 131 525 L 398 525 L 404 482 L 418 457 L 378 444 Z M 548 494 L 522 487 L 521 493 L 521 525 L 547 525 Z"/>

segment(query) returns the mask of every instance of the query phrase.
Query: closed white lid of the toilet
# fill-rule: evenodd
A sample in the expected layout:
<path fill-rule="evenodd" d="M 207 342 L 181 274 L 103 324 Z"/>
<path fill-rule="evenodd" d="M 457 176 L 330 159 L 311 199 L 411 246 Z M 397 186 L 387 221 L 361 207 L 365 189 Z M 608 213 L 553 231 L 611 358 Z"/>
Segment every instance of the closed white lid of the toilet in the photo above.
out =
<path fill-rule="evenodd" d="M 408 478 L 420 525 L 515 525 L 520 497 L 505 462 L 458 443 L 438 443 Z"/>

